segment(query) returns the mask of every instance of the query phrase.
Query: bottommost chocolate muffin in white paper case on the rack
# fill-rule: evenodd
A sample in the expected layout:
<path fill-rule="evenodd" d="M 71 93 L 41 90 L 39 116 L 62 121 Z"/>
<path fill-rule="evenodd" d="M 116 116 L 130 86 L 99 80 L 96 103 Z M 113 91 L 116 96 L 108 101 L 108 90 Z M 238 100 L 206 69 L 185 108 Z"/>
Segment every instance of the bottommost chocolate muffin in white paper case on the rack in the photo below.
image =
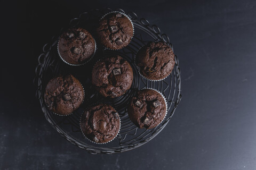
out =
<path fill-rule="evenodd" d="M 85 109 L 80 125 L 85 137 L 96 143 L 106 143 L 116 137 L 120 119 L 113 107 L 98 104 Z"/>

